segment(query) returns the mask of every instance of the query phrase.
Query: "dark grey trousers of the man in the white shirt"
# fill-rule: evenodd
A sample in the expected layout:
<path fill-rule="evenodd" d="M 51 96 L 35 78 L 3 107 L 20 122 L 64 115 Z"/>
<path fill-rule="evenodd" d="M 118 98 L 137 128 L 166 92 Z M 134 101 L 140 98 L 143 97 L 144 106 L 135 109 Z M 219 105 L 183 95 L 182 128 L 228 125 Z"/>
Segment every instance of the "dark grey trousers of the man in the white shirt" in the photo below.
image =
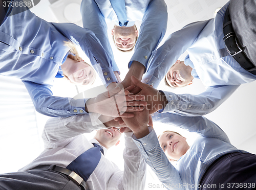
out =
<path fill-rule="evenodd" d="M 1 190 L 81 190 L 68 176 L 51 170 L 0 175 Z"/>

